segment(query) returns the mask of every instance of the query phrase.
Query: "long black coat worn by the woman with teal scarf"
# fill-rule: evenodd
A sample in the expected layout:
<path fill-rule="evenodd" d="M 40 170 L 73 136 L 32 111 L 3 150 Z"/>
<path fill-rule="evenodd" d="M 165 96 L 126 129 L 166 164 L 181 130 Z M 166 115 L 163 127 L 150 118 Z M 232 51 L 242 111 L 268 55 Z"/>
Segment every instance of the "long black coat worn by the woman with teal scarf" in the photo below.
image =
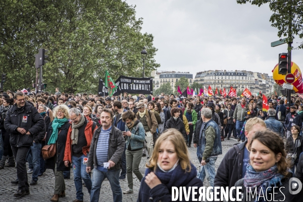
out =
<path fill-rule="evenodd" d="M 53 123 L 53 122 L 52 122 Z M 52 123 L 50 123 L 47 127 L 47 135 L 46 135 L 46 139 L 45 139 L 45 145 L 47 145 L 47 142 L 49 140 L 49 138 L 51 138 L 51 135 L 53 133 L 53 127 L 52 127 Z M 55 164 L 57 164 L 57 171 L 69 171 L 70 170 L 70 164 L 69 167 L 66 167 L 64 165 L 64 151 L 65 151 L 65 145 L 66 145 L 66 138 L 67 138 L 67 132 L 68 129 L 70 128 L 71 124 L 69 122 L 66 122 L 65 124 L 63 124 L 61 126 L 61 128 L 59 128 L 59 131 L 61 130 L 61 132 L 58 134 L 58 139 L 57 139 L 57 162 L 56 157 L 52 157 L 49 159 L 45 160 L 45 168 L 46 169 L 55 169 Z"/>

